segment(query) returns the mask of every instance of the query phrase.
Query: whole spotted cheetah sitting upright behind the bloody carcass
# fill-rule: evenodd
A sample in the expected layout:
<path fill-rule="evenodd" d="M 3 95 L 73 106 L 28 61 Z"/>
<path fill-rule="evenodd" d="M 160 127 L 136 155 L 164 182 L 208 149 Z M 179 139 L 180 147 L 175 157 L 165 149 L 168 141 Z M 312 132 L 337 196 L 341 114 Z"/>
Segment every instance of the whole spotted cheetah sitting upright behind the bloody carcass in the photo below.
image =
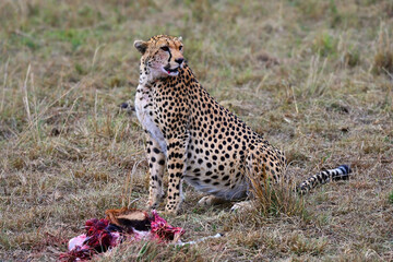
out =
<path fill-rule="evenodd" d="M 158 35 L 135 40 L 134 47 L 142 53 L 134 106 L 147 138 L 150 209 L 156 209 L 164 196 L 166 168 L 169 214 L 179 212 L 183 181 L 207 193 L 200 204 L 214 204 L 247 198 L 246 174 L 273 182 L 284 177 L 284 153 L 202 87 L 184 60 L 181 37 Z M 321 171 L 297 191 L 303 194 L 330 180 L 346 179 L 349 172 L 345 165 Z"/>

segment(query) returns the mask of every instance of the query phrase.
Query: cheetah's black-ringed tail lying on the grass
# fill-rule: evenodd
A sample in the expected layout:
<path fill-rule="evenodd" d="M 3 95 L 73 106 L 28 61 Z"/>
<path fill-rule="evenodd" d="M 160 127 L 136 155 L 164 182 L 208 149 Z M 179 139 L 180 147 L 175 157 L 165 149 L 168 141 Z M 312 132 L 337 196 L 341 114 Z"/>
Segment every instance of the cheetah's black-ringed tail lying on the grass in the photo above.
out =
<path fill-rule="evenodd" d="M 352 172 L 350 168 L 347 165 L 342 165 L 334 169 L 323 170 L 305 181 L 302 181 L 297 188 L 299 194 L 306 194 L 311 189 L 318 187 L 319 184 L 326 183 L 331 180 L 347 180 L 349 179 L 349 174 Z"/>

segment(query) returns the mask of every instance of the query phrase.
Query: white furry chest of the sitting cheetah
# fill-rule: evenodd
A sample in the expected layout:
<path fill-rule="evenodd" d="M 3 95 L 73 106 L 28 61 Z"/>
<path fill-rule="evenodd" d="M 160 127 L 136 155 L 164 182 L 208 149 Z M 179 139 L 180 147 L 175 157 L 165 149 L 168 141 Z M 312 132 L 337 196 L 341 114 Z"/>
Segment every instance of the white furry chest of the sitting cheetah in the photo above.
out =
<path fill-rule="evenodd" d="M 157 124 L 154 122 L 151 111 L 153 111 L 152 98 L 150 90 L 143 85 L 139 85 L 135 95 L 135 111 L 138 120 L 141 122 L 144 130 L 147 130 L 152 139 L 154 139 L 160 146 L 162 152 L 166 155 L 167 146 L 164 134 Z"/>

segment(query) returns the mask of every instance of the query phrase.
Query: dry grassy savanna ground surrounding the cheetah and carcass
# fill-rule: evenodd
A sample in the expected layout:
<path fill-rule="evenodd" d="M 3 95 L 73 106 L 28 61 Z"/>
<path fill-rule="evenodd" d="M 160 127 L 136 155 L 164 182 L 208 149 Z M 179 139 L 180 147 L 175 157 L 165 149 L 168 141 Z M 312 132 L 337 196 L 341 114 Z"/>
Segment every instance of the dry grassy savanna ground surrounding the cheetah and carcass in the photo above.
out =
<path fill-rule="evenodd" d="M 204 87 L 286 152 L 295 181 L 341 164 L 353 178 L 237 214 L 198 207 L 186 187 L 169 223 L 184 240 L 224 237 L 98 260 L 393 260 L 392 1 L 2 0 L 1 261 L 57 260 L 86 219 L 144 207 L 143 132 L 119 105 L 138 85 L 133 40 L 163 33 L 181 35 Z"/>

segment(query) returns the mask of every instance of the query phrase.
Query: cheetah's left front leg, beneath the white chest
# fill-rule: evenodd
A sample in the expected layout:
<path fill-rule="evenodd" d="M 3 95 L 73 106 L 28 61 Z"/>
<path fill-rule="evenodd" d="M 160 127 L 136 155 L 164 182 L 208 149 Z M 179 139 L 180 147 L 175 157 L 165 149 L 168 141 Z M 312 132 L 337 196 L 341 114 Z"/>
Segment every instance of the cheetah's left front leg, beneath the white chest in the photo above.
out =
<path fill-rule="evenodd" d="M 165 171 L 165 155 L 158 143 L 151 138 L 147 138 L 146 153 L 150 169 L 147 207 L 156 209 L 164 195 L 163 176 Z"/>

